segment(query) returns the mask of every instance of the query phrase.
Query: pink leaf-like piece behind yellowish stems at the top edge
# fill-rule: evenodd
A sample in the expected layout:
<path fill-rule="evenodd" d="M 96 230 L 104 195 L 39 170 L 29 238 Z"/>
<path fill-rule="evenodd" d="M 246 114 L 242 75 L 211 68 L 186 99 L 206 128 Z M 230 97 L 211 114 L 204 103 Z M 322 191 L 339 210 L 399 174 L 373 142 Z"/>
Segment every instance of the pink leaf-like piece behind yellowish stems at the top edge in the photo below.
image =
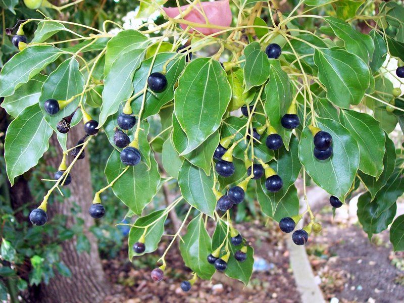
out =
<path fill-rule="evenodd" d="M 185 11 L 187 7 L 189 7 L 189 5 L 182 6 L 181 11 L 182 12 Z M 215 2 L 201 2 L 200 4 L 197 4 L 195 8 L 193 8 L 183 19 L 194 23 L 206 24 L 205 17 L 201 13 L 199 13 L 197 9 L 199 9 L 200 11 L 203 10 L 205 12 L 206 17 L 209 20 L 209 23 L 212 25 L 230 26 L 231 24 L 232 16 L 229 0 L 220 0 Z M 163 10 L 170 18 L 174 18 L 180 14 L 178 7 L 163 8 Z M 186 24 L 180 24 L 180 25 L 182 29 L 185 29 L 188 26 Z M 195 27 L 195 29 L 198 32 L 203 33 L 204 35 L 214 34 L 222 30 L 218 28 L 206 28 L 206 27 Z M 191 28 L 189 32 L 192 33 L 193 29 Z"/>

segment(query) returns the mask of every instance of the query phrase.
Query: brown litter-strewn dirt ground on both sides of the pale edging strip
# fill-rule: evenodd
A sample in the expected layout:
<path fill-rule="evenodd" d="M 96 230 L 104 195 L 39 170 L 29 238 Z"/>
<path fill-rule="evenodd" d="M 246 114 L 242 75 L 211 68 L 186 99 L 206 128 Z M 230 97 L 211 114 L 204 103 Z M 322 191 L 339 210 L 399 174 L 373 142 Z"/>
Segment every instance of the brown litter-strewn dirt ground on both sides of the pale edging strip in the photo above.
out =
<path fill-rule="evenodd" d="M 311 236 L 307 251 L 326 300 L 335 297 L 343 303 L 404 302 L 404 255 L 393 254 L 388 232 L 374 236 L 370 242 L 360 226 L 338 217 L 333 219 L 331 208 L 319 211 L 317 219 L 323 231 Z M 190 270 L 174 247 L 166 260 L 165 278 L 156 284 L 150 270 L 168 244 L 166 238 L 154 254 L 133 264 L 127 259 L 126 246 L 119 258 L 104 260 L 114 285 L 114 294 L 106 302 L 300 302 L 284 241 L 288 235 L 273 223 L 264 226 L 249 222 L 237 229 L 254 246 L 255 262 L 260 265 L 246 287 L 217 273 L 212 281 L 199 280 L 188 293 L 182 292 L 179 284 L 190 279 Z"/>

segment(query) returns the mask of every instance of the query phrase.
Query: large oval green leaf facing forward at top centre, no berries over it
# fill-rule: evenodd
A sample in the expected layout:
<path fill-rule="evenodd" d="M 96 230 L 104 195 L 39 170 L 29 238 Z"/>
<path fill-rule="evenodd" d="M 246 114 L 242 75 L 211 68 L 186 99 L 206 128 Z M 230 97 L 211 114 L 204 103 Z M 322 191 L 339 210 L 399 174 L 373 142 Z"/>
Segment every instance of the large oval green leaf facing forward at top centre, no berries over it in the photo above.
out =
<path fill-rule="evenodd" d="M 179 78 L 174 111 L 188 138 L 182 154 L 190 153 L 219 128 L 231 98 L 226 76 L 218 61 L 198 58 Z"/>

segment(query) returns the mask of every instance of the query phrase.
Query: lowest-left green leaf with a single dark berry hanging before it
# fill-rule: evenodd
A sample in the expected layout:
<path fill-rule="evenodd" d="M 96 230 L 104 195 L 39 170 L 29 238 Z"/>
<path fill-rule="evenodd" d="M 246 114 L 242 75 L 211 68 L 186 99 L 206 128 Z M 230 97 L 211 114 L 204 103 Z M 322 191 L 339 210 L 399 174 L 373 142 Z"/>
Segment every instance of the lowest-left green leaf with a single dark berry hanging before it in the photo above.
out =
<path fill-rule="evenodd" d="M 139 217 L 131 227 L 128 238 L 128 247 L 129 247 L 129 260 L 132 260 L 133 257 L 142 256 L 147 254 L 148 252 L 153 252 L 157 249 L 157 245 L 159 244 L 161 237 L 164 233 L 164 223 L 167 220 L 168 213 L 165 209 L 158 210 L 153 213 L 150 213 L 146 216 Z M 150 224 L 150 225 L 149 225 Z M 149 225 L 149 226 L 147 226 Z M 144 228 L 139 228 L 136 226 L 147 226 L 146 234 L 144 235 L 144 246 L 145 250 L 141 254 L 137 254 L 133 250 L 133 244 L 139 241 L 140 237 L 144 232 Z"/>

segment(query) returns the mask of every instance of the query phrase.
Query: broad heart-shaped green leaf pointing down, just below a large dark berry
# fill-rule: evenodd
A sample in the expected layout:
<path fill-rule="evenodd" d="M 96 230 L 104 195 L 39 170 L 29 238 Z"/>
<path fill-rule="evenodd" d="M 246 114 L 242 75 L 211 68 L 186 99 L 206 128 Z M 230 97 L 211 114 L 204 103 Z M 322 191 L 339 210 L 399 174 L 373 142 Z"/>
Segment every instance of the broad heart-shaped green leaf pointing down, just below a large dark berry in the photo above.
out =
<path fill-rule="evenodd" d="M 126 166 L 121 162 L 120 154 L 114 150 L 108 159 L 105 175 L 108 182 L 114 180 Z M 153 199 L 160 183 L 158 165 L 151 157 L 148 170 L 144 162 L 130 167 L 112 186 L 114 194 L 136 215 Z"/>

